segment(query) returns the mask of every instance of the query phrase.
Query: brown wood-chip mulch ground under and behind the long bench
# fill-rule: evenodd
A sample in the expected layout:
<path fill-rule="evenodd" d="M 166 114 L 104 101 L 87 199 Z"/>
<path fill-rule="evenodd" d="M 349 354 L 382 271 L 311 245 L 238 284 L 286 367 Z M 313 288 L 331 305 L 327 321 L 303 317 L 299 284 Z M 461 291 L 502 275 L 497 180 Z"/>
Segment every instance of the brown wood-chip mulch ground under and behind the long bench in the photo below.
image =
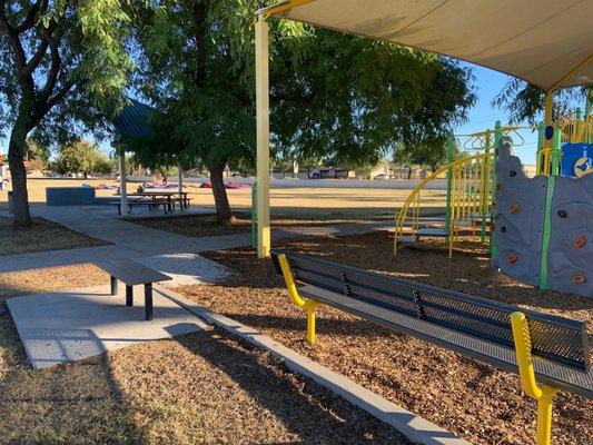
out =
<path fill-rule="evenodd" d="M 593 328 L 593 300 L 541 291 L 496 274 L 484 247 L 464 240 L 453 259 L 441 240 L 423 241 L 398 255 L 393 237 L 374 233 L 278 245 L 356 267 L 465 291 L 525 308 L 584 320 Z M 304 313 L 290 304 L 269 260 L 251 249 L 209 253 L 235 274 L 224 285 L 177 290 L 199 304 L 256 327 L 286 346 L 339 372 L 407 409 L 484 445 L 534 444 L 536 404 L 518 378 L 404 335 L 323 307 L 318 342 L 305 337 Z M 553 443 L 593 444 L 593 403 L 561 393 L 554 405 Z"/>

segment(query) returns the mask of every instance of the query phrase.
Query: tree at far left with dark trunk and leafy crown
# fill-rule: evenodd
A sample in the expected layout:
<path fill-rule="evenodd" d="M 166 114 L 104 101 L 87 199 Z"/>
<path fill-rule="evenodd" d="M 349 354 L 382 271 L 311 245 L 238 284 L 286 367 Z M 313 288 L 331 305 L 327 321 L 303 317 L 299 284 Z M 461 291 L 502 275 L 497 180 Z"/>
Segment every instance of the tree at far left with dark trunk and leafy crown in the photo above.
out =
<path fill-rule="evenodd" d="M 31 224 L 27 136 L 71 139 L 100 122 L 101 108 L 117 108 L 132 68 L 128 21 L 118 0 L 0 0 L 0 117 L 11 128 L 16 227 Z"/>

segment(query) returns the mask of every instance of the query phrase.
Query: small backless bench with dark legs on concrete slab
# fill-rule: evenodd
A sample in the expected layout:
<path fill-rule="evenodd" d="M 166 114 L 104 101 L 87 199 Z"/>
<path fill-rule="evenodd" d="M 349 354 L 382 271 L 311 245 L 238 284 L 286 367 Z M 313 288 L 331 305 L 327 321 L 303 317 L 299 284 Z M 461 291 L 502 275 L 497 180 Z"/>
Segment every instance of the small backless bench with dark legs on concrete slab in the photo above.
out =
<path fill-rule="evenodd" d="M 129 258 L 102 260 L 96 265 L 111 276 L 111 295 L 118 293 L 118 280 L 123 281 L 126 306 L 134 306 L 134 286 L 145 285 L 145 319 L 152 319 L 152 283 L 167 281 L 171 277 Z"/>

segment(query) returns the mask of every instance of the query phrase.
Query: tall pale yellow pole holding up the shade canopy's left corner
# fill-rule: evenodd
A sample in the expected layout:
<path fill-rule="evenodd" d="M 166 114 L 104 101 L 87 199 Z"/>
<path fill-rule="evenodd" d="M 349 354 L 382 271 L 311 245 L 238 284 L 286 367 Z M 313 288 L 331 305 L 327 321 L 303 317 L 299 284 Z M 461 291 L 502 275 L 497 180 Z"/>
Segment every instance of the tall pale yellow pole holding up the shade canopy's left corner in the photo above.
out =
<path fill-rule="evenodd" d="M 269 257 L 269 32 L 259 14 L 256 21 L 257 105 L 257 256 Z"/>

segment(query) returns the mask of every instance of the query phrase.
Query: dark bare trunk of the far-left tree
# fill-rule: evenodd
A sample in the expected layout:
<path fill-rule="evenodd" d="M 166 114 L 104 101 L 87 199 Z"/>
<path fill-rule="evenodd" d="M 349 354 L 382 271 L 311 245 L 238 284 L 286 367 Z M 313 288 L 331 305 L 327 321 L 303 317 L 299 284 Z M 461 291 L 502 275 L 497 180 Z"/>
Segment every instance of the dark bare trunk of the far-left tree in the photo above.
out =
<path fill-rule="evenodd" d="M 10 134 L 8 146 L 8 164 L 12 178 L 12 198 L 14 208 L 14 228 L 24 228 L 32 225 L 29 212 L 29 197 L 27 192 L 27 169 L 23 164 L 23 154 L 27 141 L 27 129 L 22 123 L 14 123 Z"/>

